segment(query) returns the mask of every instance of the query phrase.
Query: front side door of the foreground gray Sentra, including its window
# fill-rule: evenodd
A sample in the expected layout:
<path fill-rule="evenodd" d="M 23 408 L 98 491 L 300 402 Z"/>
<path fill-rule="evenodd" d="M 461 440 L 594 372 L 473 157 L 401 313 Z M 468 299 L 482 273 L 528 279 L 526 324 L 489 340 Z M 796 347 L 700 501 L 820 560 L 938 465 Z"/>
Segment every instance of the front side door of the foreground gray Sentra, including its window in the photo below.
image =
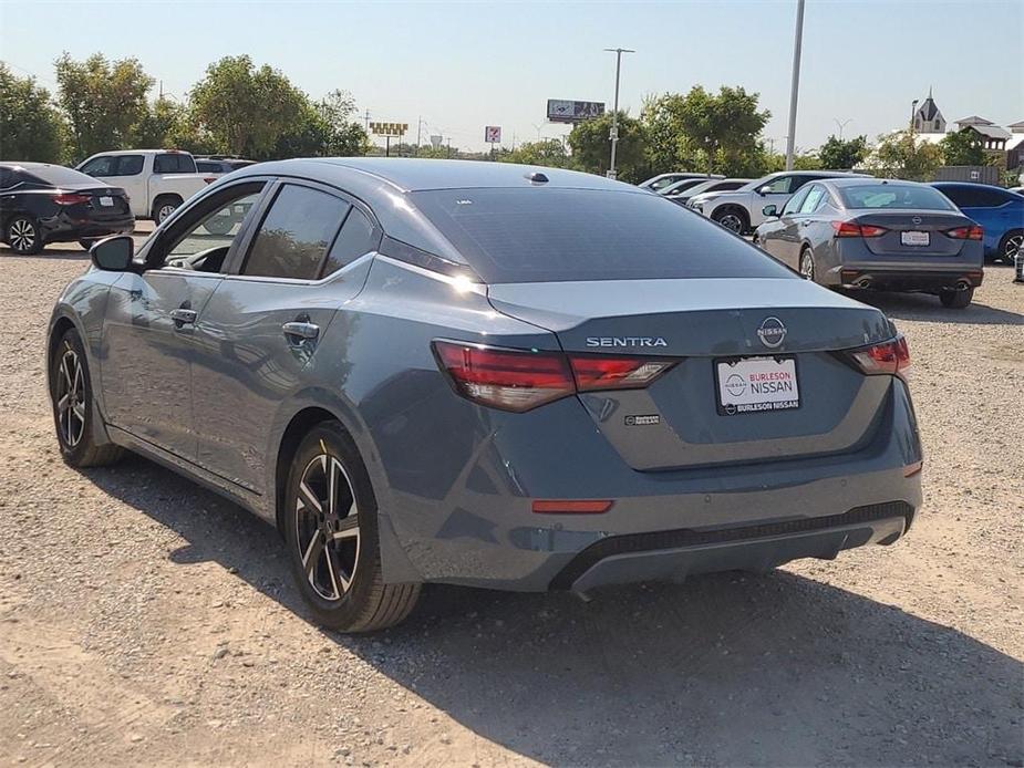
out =
<path fill-rule="evenodd" d="M 197 200 L 139 251 L 142 268 L 112 286 L 103 326 L 104 408 L 115 427 L 195 459 L 192 357 L 196 320 L 266 180 L 231 185 Z M 225 210 L 236 224 L 213 227 Z M 208 225 L 210 228 L 208 228 Z"/>

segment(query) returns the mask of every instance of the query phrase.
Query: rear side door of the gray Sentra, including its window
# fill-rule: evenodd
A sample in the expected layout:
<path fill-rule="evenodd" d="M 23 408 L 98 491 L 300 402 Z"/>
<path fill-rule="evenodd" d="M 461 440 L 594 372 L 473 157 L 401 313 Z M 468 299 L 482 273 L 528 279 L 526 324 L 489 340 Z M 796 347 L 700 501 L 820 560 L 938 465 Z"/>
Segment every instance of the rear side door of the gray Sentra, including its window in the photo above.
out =
<path fill-rule="evenodd" d="M 303 371 L 339 307 L 365 271 L 346 267 L 376 250 L 369 209 L 313 183 L 288 180 L 237 253 L 196 325 L 194 408 L 198 463 L 262 492 L 275 417 L 303 386 Z"/>

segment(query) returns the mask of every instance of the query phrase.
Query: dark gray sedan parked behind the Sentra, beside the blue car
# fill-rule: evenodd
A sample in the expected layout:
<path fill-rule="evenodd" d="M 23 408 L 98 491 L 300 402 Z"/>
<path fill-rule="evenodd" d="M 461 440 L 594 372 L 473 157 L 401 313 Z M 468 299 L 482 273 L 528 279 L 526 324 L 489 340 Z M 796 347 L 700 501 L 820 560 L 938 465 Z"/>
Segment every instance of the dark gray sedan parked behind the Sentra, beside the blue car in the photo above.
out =
<path fill-rule="evenodd" d="M 754 242 L 823 286 L 922 291 L 962 309 L 982 281 L 982 228 L 924 184 L 816 181 L 764 214 Z"/>

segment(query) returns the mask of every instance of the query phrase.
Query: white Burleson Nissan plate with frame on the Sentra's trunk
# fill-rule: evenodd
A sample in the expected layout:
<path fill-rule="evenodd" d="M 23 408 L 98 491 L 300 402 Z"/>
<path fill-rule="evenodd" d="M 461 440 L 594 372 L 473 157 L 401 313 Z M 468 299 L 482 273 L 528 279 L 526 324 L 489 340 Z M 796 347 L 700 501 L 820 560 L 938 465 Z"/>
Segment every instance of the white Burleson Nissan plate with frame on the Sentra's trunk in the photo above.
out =
<path fill-rule="evenodd" d="M 712 361 L 712 367 L 715 380 L 715 409 L 720 416 L 798 411 L 804 405 L 804 398 L 800 396 L 800 372 L 795 355 L 717 357 Z M 752 381 L 752 374 L 776 375 L 768 378 L 757 376 Z M 739 381 L 734 376 L 738 376 Z M 773 382 L 788 382 L 792 388 L 752 392 L 754 384 L 765 386 Z M 792 396 L 787 397 L 789 392 Z"/>

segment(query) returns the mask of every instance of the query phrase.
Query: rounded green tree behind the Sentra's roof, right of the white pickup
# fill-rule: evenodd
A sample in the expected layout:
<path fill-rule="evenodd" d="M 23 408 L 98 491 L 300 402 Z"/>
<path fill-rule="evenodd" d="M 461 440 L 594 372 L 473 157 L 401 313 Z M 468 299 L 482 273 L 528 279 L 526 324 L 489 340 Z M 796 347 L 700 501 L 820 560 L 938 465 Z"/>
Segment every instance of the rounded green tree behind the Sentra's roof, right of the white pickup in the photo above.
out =
<path fill-rule="evenodd" d="M 282 136 L 309 128 L 306 94 L 280 71 L 267 64 L 257 69 L 248 55 L 210 64 L 190 97 L 200 128 L 219 149 L 235 155 L 273 157 Z"/>

